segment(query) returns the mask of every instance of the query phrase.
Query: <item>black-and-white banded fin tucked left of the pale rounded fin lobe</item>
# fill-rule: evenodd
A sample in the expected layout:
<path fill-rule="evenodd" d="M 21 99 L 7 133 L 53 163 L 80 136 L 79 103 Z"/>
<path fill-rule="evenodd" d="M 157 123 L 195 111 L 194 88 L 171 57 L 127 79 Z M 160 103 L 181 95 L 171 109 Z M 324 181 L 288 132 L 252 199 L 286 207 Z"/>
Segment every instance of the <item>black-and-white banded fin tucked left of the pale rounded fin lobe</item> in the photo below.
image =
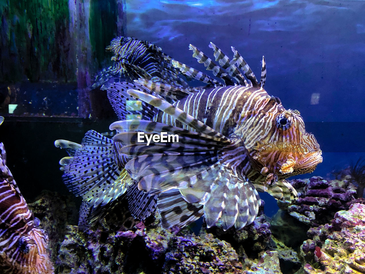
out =
<path fill-rule="evenodd" d="M 178 189 L 160 193 L 157 199 L 158 212 L 163 228 L 179 225 L 184 227 L 203 216 L 203 205 L 188 203 Z"/>

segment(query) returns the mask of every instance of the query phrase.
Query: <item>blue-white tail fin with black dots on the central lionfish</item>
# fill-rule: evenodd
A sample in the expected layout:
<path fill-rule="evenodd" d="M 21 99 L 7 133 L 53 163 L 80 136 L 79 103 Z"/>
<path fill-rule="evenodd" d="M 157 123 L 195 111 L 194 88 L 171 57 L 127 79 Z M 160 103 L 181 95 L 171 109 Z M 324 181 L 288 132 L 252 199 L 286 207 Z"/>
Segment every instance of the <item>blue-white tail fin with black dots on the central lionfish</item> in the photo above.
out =
<path fill-rule="evenodd" d="M 76 196 L 89 206 L 105 205 L 126 191 L 131 178 L 118 167 L 113 141 L 93 130 L 82 140 L 70 163 L 64 166 L 64 182 Z"/>

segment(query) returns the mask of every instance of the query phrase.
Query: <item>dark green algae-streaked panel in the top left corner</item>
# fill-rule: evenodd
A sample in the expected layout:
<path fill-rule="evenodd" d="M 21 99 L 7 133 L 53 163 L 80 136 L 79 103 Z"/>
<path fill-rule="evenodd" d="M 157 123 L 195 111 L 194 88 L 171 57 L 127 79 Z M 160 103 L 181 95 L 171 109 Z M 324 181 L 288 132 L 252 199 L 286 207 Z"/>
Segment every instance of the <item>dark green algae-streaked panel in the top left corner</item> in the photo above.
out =
<path fill-rule="evenodd" d="M 72 79 L 67 0 L 8 0 L 1 5 L 0 81 Z M 9 66 L 8 64 L 13 64 Z"/>

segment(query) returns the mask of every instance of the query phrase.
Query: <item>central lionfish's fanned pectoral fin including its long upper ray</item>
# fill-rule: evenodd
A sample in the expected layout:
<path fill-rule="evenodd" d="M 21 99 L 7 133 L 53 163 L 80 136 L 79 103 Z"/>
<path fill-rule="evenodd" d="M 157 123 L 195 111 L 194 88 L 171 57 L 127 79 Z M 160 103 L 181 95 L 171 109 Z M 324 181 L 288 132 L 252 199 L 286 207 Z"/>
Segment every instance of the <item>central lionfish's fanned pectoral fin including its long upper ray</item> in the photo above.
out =
<path fill-rule="evenodd" d="M 117 134 L 114 140 L 125 145 L 119 152 L 132 157 L 125 168 L 138 182 L 138 188 L 150 194 L 160 193 L 160 195 L 166 191 L 180 190 L 186 202 L 203 205 L 208 227 L 214 225 L 219 219 L 225 230 L 233 225 L 241 229 L 246 224 L 250 224 L 257 216 L 261 202 L 253 184 L 235 171 L 235 166 L 249 157 L 242 140 L 237 137 L 231 140 L 223 136 L 153 95 L 140 91 L 128 91 L 128 94 L 152 104 L 196 130 L 196 132 L 187 131 L 186 138 L 179 139 L 179 147 L 163 142 L 153 142 L 150 146 L 137 144 L 136 133 Z M 130 121 L 117 123 L 125 130 L 128 122 Z M 138 122 L 134 121 L 130 129 L 136 130 L 139 126 Z M 154 126 L 158 130 L 154 130 Z M 169 129 L 168 125 L 164 126 Z M 149 124 L 143 121 L 142 127 L 150 127 L 152 132 L 158 132 L 163 128 L 161 123 L 150 122 Z M 177 130 L 174 127 L 170 129 L 172 129 L 171 132 Z M 204 146 L 204 141 L 195 141 L 195 139 L 204 140 L 210 137 L 216 140 L 216 147 L 212 146 L 211 149 Z M 132 149 L 133 145 L 137 146 L 137 149 Z M 188 145 L 192 152 L 185 152 L 184 147 Z M 128 146 L 129 149 L 123 150 Z M 239 161 L 236 163 L 237 159 Z"/>

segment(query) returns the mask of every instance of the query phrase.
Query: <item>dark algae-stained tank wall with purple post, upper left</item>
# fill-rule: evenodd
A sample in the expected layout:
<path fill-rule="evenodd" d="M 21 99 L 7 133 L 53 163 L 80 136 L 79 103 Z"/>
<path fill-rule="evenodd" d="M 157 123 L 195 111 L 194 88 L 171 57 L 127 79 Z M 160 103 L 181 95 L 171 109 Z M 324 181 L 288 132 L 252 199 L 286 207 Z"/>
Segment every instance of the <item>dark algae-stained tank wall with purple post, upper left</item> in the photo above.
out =
<path fill-rule="evenodd" d="M 89 117 L 125 13 L 125 0 L 1 1 L 1 115 Z"/>

